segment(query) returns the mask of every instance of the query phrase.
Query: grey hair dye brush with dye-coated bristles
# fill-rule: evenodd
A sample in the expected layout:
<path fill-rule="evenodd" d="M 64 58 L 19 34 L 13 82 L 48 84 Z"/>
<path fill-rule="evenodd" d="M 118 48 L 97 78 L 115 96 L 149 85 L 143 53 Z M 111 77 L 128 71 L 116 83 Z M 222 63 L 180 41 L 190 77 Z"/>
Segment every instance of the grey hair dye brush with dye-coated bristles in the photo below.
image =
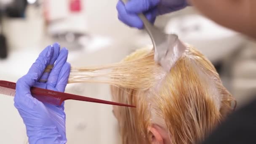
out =
<path fill-rule="evenodd" d="M 123 3 L 129 0 L 122 0 Z M 155 62 L 160 64 L 166 72 L 170 72 L 173 65 L 182 56 L 186 46 L 179 40 L 175 34 L 166 34 L 149 22 L 143 13 L 138 14 L 144 24 L 149 37 L 154 46 Z"/>

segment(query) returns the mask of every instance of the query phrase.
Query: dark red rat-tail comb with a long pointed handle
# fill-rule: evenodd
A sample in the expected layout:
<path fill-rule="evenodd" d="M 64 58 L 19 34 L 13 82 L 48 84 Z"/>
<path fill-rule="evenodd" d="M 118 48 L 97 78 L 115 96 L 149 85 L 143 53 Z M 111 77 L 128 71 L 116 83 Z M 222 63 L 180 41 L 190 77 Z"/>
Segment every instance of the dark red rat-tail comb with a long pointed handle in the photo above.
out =
<path fill-rule="evenodd" d="M 16 93 L 16 83 L 0 80 L 0 94 L 8 95 L 8 96 L 15 96 Z M 128 104 L 120 104 L 112 101 L 104 101 L 101 99 L 93 99 L 85 96 L 78 96 L 75 94 L 70 93 L 62 93 L 59 91 L 51 91 L 43 88 L 31 88 L 32 96 L 42 102 L 47 102 L 54 105 L 61 105 L 63 101 L 72 99 L 77 101 L 88 101 L 94 103 L 101 103 L 101 104 L 111 104 L 117 106 L 125 106 L 125 107 L 135 107 Z"/>

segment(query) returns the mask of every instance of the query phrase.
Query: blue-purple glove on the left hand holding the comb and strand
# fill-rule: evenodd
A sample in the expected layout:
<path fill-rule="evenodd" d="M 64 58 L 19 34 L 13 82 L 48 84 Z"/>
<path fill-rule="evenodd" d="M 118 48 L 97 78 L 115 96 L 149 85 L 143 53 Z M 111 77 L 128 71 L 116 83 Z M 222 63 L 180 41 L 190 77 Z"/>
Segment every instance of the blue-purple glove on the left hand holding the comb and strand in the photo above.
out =
<path fill-rule="evenodd" d="M 64 102 L 61 106 L 42 103 L 30 93 L 32 86 L 64 92 L 70 73 L 67 55 L 67 49 L 63 48 L 60 51 L 60 45 L 57 43 L 48 46 L 40 53 L 29 72 L 16 83 L 14 106 L 26 125 L 29 144 L 65 144 L 67 142 Z M 44 72 L 45 67 L 54 62 L 51 72 Z M 48 81 L 39 82 L 40 79 Z"/>

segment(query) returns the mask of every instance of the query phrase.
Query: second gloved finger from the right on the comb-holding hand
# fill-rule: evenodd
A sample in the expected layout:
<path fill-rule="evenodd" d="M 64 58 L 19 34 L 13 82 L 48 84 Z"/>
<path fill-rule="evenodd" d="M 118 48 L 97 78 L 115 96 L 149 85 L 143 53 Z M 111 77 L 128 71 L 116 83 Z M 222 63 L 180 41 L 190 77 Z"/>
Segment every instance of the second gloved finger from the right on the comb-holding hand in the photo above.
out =
<path fill-rule="evenodd" d="M 50 72 L 50 75 L 48 77 L 48 81 L 47 81 L 47 89 L 53 90 L 57 84 L 58 78 L 59 78 L 59 74 L 61 72 L 61 69 L 63 67 L 63 65 L 66 63 L 67 61 L 67 56 L 68 56 L 68 50 L 67 48 L 62 48 L 59 56 L 56 60 L 56 63 L 53 67 L 53 69 Z"/>

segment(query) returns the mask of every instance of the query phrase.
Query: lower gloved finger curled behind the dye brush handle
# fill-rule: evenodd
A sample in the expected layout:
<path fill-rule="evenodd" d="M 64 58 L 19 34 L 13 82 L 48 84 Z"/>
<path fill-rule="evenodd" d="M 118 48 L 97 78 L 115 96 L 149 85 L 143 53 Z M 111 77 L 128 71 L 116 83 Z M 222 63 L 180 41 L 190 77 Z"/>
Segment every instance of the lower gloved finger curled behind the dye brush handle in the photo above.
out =
<path fill-rule="evenodd" d="M 142 29 L 144 27 L 143 22 L 141 21 L 139 16 L 137 14 L 127 13 L 127 11 L 125 10 L 124 4 L 121 1 L 117 3 L 117 11 L 118 11 L 118 19 L 123 23 L 127 24 L 128 26 L 136 27 L 138 29 Z M 145 16 L 150 22 L 154 23 L 156 14 L 157 13 L 155 8 L 145 13 Z"/>

